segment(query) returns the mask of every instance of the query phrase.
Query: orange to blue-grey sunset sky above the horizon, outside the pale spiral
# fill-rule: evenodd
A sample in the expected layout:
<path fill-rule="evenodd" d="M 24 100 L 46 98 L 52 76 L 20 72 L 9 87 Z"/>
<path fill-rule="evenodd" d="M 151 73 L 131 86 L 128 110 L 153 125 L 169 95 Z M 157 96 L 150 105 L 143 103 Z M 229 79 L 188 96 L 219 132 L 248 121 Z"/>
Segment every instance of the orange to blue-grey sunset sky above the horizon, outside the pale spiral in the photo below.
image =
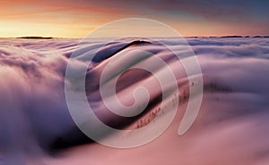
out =
<path fill-rule="evenodd" d="M 0 37 L 84 37 L 129 17 L 161 21 L 185 37 L 269 35 L 266 0 L 0 0 Z"/>

